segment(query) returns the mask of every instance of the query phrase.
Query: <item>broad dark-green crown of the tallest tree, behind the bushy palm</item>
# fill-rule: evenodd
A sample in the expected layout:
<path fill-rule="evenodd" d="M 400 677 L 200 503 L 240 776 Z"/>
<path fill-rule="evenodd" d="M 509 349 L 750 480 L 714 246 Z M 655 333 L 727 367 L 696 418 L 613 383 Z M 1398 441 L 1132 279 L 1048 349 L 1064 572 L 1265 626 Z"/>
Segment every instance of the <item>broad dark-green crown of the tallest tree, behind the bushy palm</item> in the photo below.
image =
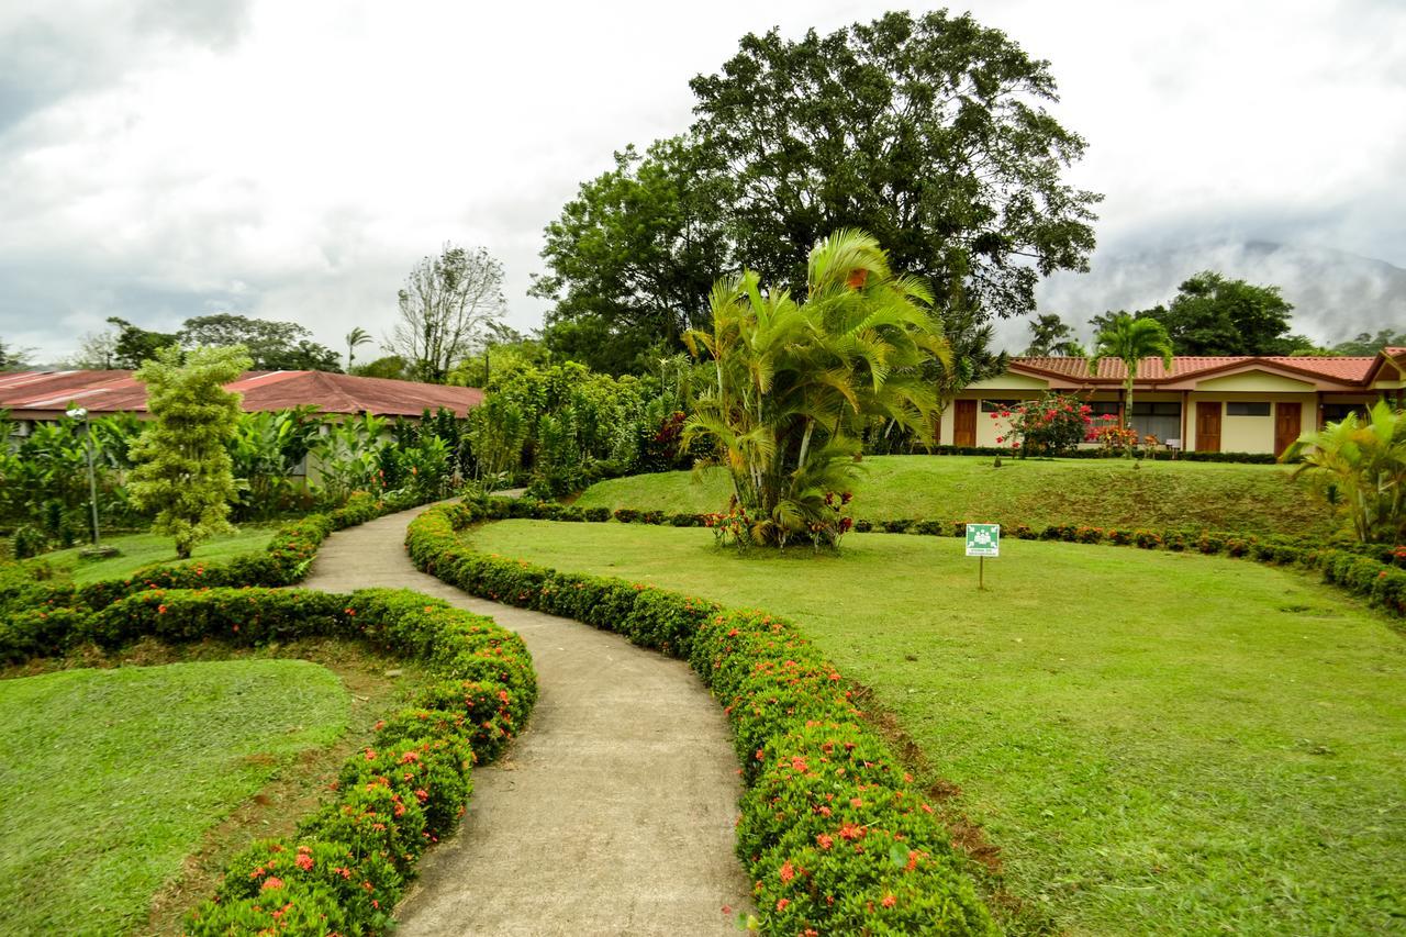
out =
<path fill-rule="evenodd" d="M 686 135 L 627 149 L 548 227 L 554 350 L 599 366 L 617 339 L 627 357 L 666 346 L 737 257 L 803 295 L 810 249 L 841 228 L 980 318 L 1029 312 L 1042 274 L 1087 269 L 1099 196 L 1063 179 L 1084 141 L 1045 108 L 1049 63 L 969 15 L 748 34 L 690 86 Z"/>

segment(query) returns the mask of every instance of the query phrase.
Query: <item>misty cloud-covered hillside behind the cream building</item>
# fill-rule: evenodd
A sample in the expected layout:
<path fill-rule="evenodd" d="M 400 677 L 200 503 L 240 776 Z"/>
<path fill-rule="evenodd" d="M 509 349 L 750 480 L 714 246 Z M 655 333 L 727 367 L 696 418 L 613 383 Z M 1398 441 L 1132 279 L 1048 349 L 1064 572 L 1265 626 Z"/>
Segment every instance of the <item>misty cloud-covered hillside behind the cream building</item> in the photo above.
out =
<path fill-rule="evenodd" d="M 1087 274 L 1059 273 L 1038 290 L 1042 312 L 1059 312 L 1087 332 L 1105 310 L 1144 310 L 1167 302 L 1199 270 L 1278 286 L 1294 304 L 1295 331 L 1333 343 L 1358 332 L 1406 329 L 1406 270 L 1385 260 L 1326 248 L 1265 241 L 1222 241 L 1170 250 L 1094 256 Z M 1024 348 L 1025 321 L 1002 324 L 1008 348 Z"/>

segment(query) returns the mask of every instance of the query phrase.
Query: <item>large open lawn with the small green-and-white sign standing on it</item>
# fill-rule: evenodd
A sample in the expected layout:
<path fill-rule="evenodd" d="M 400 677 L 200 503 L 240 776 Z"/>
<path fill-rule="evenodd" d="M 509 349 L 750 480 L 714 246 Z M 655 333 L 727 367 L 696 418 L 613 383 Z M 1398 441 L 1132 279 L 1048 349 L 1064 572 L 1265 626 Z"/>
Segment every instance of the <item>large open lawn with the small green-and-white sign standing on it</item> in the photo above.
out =
<path fill-rule="evenodd" d="M 793 616 L 962 788 L 1008 888 L 1063 933 L 1406 927 L 1406 640 L 1303 574 L 1008 540 L 977 592 L 956 539 L 744 559 L 699 529 L 465 536 Z"/>

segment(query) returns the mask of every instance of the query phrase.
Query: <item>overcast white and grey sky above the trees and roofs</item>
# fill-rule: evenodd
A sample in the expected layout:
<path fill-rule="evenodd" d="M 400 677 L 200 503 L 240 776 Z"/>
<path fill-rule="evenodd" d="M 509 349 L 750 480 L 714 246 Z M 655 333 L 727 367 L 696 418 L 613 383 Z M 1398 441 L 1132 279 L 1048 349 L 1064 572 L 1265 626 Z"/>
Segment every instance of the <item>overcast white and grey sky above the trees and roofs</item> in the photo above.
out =
<path fill-rule="evenodd" d="M 405 273 L 446 241 L 501 257 L 509 319 L 533 328 L 543 227 L 612 151 L 690 122 L 689 77 L 747 31 L 894 6 L 4 4 L 0 340 L 58 359 L 110 315 L 174 329 L 228 310 L 340 348 L 389 329 Z M 1071 180 L 1107 194 L 1095 273 L 1050 283 L 1047 307 L 1167 298 L 1246 241 L 1406 267 L 1406 3 L 970 10 L 1053 63 L 1054 113 L 1090 142 Z M 1306 314 L 1323 338 L 1347 328 Z"/>

